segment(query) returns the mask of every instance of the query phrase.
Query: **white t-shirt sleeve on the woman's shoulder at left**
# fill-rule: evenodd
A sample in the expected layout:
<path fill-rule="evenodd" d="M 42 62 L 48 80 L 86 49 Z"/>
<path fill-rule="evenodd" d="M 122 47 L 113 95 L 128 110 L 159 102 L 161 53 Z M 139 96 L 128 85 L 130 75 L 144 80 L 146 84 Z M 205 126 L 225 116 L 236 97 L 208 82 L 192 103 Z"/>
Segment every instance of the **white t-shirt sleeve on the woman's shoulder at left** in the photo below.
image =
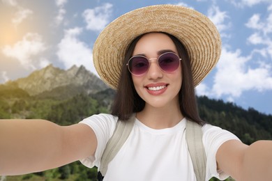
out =
<path fill-rule="evenodd" d="M 107 141 L 109 141 L 114 132 L 117 120 L 118 118 L 116 116 L 100 113 L 80 121 L 80 124 L 89 125 L 89 127 L 93 129 L 98 141 L 95 155 L 80 160 L 84 166 L 89 168 L 100 166 L 100 159 L 107 145 Z"/>

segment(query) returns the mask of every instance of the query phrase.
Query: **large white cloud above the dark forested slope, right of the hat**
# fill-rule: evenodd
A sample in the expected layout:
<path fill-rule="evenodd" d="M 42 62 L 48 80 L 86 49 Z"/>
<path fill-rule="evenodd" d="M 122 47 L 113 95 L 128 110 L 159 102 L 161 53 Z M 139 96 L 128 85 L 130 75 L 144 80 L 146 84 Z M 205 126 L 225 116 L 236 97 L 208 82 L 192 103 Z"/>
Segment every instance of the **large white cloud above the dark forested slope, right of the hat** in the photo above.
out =
<path fill-rule="evenodd" d="M 256 68 L 249 66 L 252 55 L 242 56 L 241 51 L 235 52 L 222 49 L 220 61 L 216 66 L 216 74 L 211 89 L 201 85 L 197 89 L 199 95 L 229 96 L 229 100 L 239 97 L 243 91 L 259 92 L 272 90 L 271 66 L 260 62 Z"/>

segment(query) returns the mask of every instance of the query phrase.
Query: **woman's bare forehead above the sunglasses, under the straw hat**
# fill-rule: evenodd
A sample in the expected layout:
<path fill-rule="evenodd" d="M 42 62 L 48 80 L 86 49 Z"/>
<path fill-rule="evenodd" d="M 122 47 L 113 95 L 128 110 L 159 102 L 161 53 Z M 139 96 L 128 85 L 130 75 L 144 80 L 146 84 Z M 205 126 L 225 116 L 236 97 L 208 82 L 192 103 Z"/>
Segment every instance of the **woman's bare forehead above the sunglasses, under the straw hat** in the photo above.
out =
<path fill-rule="evenodd" d="M 154 54 L 163 49 L 169 49 L 177 53 L 174 42 L 165 33 L 147 33 L 137 42 L 133 55 L 146 54 L 154 56 Z"/>

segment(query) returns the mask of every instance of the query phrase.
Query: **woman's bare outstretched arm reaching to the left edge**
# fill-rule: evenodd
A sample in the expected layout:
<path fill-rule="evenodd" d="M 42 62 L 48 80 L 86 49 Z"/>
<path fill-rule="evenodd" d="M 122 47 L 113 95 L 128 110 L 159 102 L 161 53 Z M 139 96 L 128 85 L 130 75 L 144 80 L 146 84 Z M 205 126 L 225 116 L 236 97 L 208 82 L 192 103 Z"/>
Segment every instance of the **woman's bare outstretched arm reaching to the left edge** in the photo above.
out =
<path fill-rule="evenodd" d="M 56 168 L 93 155 L 96 147 L 93 130 L 84 124 L 0 120 L 0 175 Z"/>

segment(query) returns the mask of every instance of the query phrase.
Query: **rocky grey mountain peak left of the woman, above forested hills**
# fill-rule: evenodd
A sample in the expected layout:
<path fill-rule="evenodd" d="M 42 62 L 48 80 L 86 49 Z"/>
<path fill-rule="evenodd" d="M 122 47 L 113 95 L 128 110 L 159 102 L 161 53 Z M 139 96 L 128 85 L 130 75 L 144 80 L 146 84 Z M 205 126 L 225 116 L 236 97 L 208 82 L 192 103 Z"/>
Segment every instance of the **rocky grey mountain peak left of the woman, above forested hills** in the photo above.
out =
<path fill-rule="evenodd" d="M 79 93 L 98 93 L 109 88 L 95 74 L 84 66 L 73 65 L 69 70 L 61 70 L 53 65 L 32 72 L 29 77 L 10 81 L 6 86 L 13 86 L 36 97 L 73 97 Z"/>

